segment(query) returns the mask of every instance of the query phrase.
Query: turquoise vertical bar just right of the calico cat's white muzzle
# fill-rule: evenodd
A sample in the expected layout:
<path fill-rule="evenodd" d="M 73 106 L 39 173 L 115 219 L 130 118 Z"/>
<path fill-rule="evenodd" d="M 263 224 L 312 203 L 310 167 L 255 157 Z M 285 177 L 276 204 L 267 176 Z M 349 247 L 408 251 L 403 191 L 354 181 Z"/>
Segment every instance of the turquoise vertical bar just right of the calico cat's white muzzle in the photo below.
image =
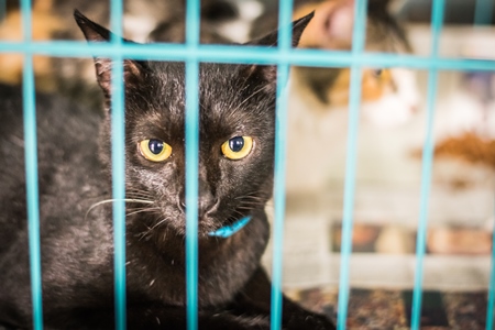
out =
<path fill-rule="evenodd" d="M 440 32 L 443 22 L 444 0 L 436 0 L 432 2 L 431 13 L 431 32 L 433 34 L 430 58 L 438 57 Z M 419 223 L 418 234 L 416 239 L 416 272 L 415 272 L 415 287 L 413 293 L 413 310 L 411 310 L 411 330 L 418 330 L 420 327 L 421 316 L 421 298 L 422 298 L 422 275 L 424 275 L 424 258 L 426 250 L 426 234 L 428 228 L 428 208 L 431 186 L 431 167 L 433 163 L 433 114 L 435 102 L 437 96 L 438 85 L 438 69 L 430 68 L 428 75 L 428 117 L 427 117 L 427 133 L 425 146 L 422 150 L 422 165 L 421 165 L 421 190 L 420 190 L 420 206 L 419 206 Z"/>

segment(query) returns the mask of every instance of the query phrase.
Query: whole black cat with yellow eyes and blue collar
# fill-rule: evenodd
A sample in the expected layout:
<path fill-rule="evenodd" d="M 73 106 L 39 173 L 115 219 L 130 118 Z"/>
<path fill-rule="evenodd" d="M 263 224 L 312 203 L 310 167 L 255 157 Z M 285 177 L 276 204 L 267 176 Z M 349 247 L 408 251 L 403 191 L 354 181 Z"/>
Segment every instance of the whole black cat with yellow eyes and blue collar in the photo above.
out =
<path fill-rule="evenodd" d="M 294 46 L 311 16 L 293 23 Z M 105 28 L 77 11 L 75 18 L 88 41 L 109 40 Z M 251 44 L 276 43 L 274 32 Z M 95 63 L 105 119 L 36 97 L 46 329 L 114 327 L 112 63 Z M 124 61 L 129 329 L 186 327 L 184 72 L 182 63 Z M 271 283 L 260 257 L 270 237 L 264 206 L 273 185 L 275 84 L 275 66 L 200 64 L 200 329 L 270 328 Z M 0 323 L 30 328 L 21 109 L 21 92 L 1 87 Z M 282 321 L 284 329 L 334 329 L 286 298 Z"/>

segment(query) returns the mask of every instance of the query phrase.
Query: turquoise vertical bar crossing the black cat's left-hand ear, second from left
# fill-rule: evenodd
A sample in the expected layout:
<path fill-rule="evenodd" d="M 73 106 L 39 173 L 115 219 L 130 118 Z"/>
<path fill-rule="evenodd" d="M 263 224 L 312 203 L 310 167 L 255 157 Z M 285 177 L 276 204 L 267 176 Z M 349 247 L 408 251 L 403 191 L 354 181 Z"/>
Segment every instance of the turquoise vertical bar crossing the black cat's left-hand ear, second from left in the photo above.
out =
<path fill-rule="evenodd" d="M 110 26 L 113 31 L 111 46 L 119 48 L 122 43 L 122 1 L 110 2 Z M 114 244 L 114 296 L 116 329 L 127 328 L 125 315 L 125 125 L 123 58 L 112 57 L 112 197 L 113 202 L 113 244 Z"/>

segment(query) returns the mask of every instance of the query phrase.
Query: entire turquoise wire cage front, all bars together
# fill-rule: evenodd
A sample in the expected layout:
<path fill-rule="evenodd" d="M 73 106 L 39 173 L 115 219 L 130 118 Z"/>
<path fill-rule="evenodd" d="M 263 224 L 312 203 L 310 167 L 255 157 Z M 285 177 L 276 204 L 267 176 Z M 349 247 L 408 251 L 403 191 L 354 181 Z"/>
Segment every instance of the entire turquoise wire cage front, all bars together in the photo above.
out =
<path fill-rule="evenodd" d="M 43 329 L 43 307 L 41 287 L 41 255 L 38 228 L 38 187 L 37 187 L 37 154 L 36 154 L 36 112 L 35 86 L 33 74 L 33 55 L 80 57 L 84 55 L 103 55 L 111 57 L 114 63 L 122 63 L 123 58 L 182 61 L 186 63 L 186 256 L 187 256 L 187 318 L 188 330 L 195 330 L 197 323 L 197 280 L 198 280 L 198 243 L 197 243 L 197 198 L 198 198 L 198 70 L 200 62 L 238 63 L 238 64 L 276 64 L 278 67 L 278 86 L 276 103 L 276 151 L 275 151 L 275 220 L 273 229 L 274 257 L 273 257 L 273 286 L 272 286 L 272 329 L 280 328 L 282 315 L 282 249 L 285 210 L 285 135 L 286 135 L 286 98 L 284 86 L 288 79 L 288 67 L 299 66 L 328 66 L 351 67 L 351 100 L 349 114 L 348 153 L 344 182 L 343 228 L 341 245 L 341 267 L 339 284 L 338 329 L 345 329 L 345 319 L 349 304 L 349 261 L 352 253 L 352 228 L 356 165 L 356 139 L 359 134 L 359 103 L 362 66 L 392 67 L 402 66 L 428 70 L 427 98 L 427 132 L 422 152 L 422 175 L 418 234 L 416 244 L 416 268 L 414 283 L 414 297 L 411 310 L 411 329 L 420 326 L 421 295 L 422 295 L 422 265 L 426 250 L 426 232 L 428 227 L 428 200 L 431 183 L 432 167 L 432 122 L 435 113 L 437 80 L 439 70 L 488 70 L 495 72 L 494 61 L 441 58 L 438 54 L 439 36 L 442 28 L 444 0 L 432 1 L 431 15 L 431 53 L 429 56 L 371 54 L 364 53 L 366 0 L 356 0 L 353 26 L 353 42 L 351 52 L 327 52 L 322 50 L 292 50 L 289 29 L 293 3 L 279 1 L 279 43 L 278 47 L 243 47 L 199 44 L 199 0 L 187 1 L 186 14 L 186 43 L 185 44 L 124 44 L 119 37 L 110 43 L 88 45 L 82 42 L 33 42 L 31 35 L 31 0 L 21 0 L 22 11 L 22 42 L 0 41 L 0 52 L 22 53 L 24 55 L 23 70 L 23 111 L 25 139 L 25 172 L 29 215 L 29 242 L 31 256 L 31 282 L 33 302 L 33 328 Z M 493 2 L 477 0 L 476 22 L 490 23 Z M 6 2 L 0 0 L 0 19 L 4 14 Z M 116 35 L 122 35 L 122 2 L 111 0 L 110 22 Z M 123 200 L 124 191 L 124 127 L 123 127 L 123 86 L 122 66 L 113 66 L 112 72 L 112 176 L 113 198 Z M 495 213 L 495 210 L 494 210 Z M 124 202 L 113 204 L 114 221 L 114 280 L 116 280 L 116 324 L 117 329 L 125 329 L 125 227 Z M 495 233 L 495 231 L 494 231 Z M 492 274 L 488 287 L 488 306 L 486 312 L 486 329 L 493 329 L 495 265 L 492 251 Z"/>

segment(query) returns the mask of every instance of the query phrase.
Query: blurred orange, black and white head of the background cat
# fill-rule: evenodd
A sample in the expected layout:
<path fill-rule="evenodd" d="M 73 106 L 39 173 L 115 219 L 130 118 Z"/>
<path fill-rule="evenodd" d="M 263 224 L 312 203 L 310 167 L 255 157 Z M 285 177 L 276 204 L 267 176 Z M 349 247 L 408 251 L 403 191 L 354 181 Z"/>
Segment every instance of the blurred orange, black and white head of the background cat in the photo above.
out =
<path fill-rule="evenodd" d="M 387 0 L 370 0 L 365 50 L 410 53 L 406 34 L 388 12 Z M 294 16 L 315 10 L 315 19 L 302 33 L 299 46 L 350 51 L 354 25 L 354 0 L 327 0 L 299 7 Z M 349 103 L 349 68 L 297 68 L 300 78 L 323 103 Z M 419 103 L 416 75 L 405 68 L 362 69 L 363 116 L 378 125 L 395 125 L 411 118 Z"/>

